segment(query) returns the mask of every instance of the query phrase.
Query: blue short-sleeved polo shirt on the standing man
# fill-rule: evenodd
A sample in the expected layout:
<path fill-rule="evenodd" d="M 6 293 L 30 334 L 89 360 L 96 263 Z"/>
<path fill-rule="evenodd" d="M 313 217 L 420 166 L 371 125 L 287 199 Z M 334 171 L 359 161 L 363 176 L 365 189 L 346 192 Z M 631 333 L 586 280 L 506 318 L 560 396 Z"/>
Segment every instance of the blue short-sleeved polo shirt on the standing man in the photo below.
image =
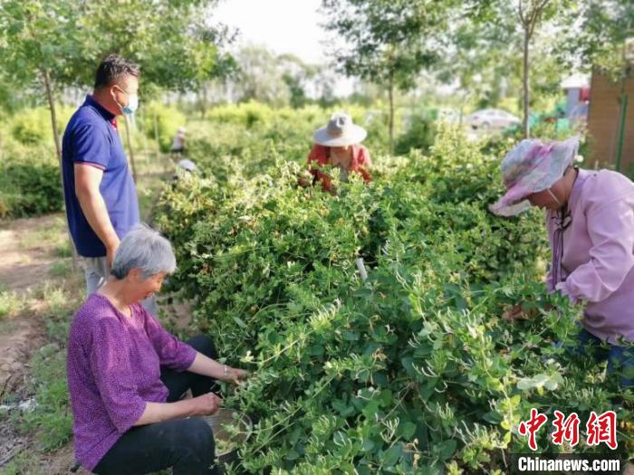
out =
<path fill-rule="evenodd" d="M 72 241 L 84 257 L 103 257 L 106 247 L 92 231 L 75 194 L 74 164 L 103 170 L 99 187 L 110 222 L 120 239 L 139 223 L 139 200 L 128 168 L 115 116 L 86 96 L 72 115 L 62 141 L 63 193 Z"/>

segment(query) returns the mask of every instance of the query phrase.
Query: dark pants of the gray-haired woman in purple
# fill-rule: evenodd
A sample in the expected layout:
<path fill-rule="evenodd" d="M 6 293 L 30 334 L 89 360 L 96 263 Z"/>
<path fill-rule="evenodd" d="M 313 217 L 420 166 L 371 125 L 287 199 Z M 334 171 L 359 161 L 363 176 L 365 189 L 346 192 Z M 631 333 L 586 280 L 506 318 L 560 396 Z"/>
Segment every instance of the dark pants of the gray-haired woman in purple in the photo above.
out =
<path fill-rule="evenodd" d="M 193 337 L 187 344 L 198 352 L 217 359 L 216 347 L 210 338 Z M 168 403 L 191 389 L 194 397 L 208 393 L 214 380 L 184 371 L 178 373 L 161 367 L 160 379 L 169 390 Z M 132 475 L 150 473 L 172 467 L 174 475 L 217 475 L 214 434 L 202 419 L 176 419 L 132 427 L 104 455 L 94 469 L 100 475 Z"/>

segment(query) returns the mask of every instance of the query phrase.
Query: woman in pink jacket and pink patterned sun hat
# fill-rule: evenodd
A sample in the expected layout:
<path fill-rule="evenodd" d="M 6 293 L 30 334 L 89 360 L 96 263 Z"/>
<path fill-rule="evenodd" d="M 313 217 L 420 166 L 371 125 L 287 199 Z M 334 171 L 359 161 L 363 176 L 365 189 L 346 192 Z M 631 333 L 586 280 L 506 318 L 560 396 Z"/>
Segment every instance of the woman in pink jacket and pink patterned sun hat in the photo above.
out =
<path fill-rule="evenodd" d="M 575 354 L 608 359 L 622 387 L 634 386 L 634 184 L 610 170 L 573 166 L 579 138 L 523 140 L 502 162 L 506 194 L 490 209 L 505 216 L 546 209 L 552 262 L 548 290 L 583 302 Z M 523 318 L 521 305 L 504 318 Z M 602 344 L 607 343 L 608 348 Z"/>

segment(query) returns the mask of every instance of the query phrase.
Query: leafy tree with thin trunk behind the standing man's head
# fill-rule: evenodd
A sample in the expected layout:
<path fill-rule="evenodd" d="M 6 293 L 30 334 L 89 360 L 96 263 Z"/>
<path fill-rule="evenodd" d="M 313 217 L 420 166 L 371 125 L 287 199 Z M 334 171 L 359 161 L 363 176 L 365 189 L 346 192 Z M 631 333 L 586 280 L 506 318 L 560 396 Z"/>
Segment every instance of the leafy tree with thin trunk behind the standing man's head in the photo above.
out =
<path fill-rule="evenodd" d="M 66 86 L 91 86 L 100 60 L 118 52 L 139 62 L 145 84 L 186 88 L 213 71 L 222 35 L 200 18 L 216 0 L 4 0 L 0 63 L 16 84 L 48 101 L 62 159 L 55 103 Z M 60 166 L 61 173 L 61 166 Z"/>

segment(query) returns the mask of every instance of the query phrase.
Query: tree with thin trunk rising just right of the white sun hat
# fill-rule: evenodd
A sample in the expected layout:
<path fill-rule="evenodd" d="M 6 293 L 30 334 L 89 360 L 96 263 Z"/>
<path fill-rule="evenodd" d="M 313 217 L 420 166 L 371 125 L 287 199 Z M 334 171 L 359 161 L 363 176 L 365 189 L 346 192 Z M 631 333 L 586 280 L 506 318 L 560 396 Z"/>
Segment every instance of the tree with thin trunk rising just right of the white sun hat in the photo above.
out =
<path fill-rule="evenodd" d="M 455 0 L 322 0 L 327 22 L 345 45 L 333 54 L 341 70 L 388 90 L 389 146 L 394 141 L 395 90 L 409 90 L 437 61 L 438 38 Z"/>

